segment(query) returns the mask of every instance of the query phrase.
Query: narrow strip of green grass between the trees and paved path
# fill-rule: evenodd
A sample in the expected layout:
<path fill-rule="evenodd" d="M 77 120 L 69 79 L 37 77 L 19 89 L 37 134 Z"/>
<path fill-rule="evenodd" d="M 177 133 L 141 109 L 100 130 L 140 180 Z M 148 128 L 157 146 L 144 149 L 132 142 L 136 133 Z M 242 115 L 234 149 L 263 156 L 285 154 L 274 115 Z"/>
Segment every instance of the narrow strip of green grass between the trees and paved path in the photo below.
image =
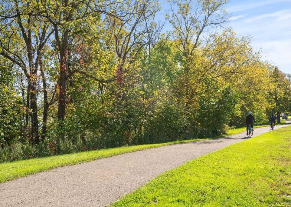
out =
<path fill-rule="evenodd" d="M 150 149 L 165 145 L 174 145 L 186 142 L 195 142 L 202 139 L 190 139 L 161 144 L 134 145 L 126 147 L 117 147 L 110 149 L 92 150 L 86 152 L 77 152 L 65 155 L 55 155 L 43 158 L 26 159 L 14 162 L 0 163 L 0 183 L 24 177 L 36 172 L 47 171 L 65 165 L 74 165 L 82 162 L 90 162 L 96 159 L 111 157 L 114 155 L 135 152 L 142 149 Z M 205 140 L 205 139 L 203 139 Z"/>

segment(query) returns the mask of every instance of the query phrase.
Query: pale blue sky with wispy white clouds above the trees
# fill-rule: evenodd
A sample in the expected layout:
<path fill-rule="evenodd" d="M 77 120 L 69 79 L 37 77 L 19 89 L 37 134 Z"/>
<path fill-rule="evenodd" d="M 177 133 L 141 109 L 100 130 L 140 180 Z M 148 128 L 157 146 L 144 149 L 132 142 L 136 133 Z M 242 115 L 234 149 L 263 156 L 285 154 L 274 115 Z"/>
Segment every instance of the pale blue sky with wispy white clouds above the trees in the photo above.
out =
<path fill-rule="evenodd" d="M 162 1 L 162 10 L 168 5 Z M 238 36 L 250 35 L 252 46 L 261 50 L 263 60 L 291 73 L 291 0 L 230 0 L 227 23 Z M 164 20 L 161 11 L 158 18 Z M 169 29 L 169 24 L 165 24 Z"/>

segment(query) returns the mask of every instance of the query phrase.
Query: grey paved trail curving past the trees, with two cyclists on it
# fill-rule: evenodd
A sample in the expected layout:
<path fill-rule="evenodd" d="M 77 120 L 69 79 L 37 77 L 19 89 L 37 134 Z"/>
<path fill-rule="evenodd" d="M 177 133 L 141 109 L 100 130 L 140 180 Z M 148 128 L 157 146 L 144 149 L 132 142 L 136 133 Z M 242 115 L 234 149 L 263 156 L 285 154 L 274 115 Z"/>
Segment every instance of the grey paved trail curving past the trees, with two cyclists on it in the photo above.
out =
<path fill-rule="evenodd" d="M 255 129 L 254 136 L 269 129 Z M 162 172 L 244 140 L 245 132 L 40 172 L 0 184 L 0 206 L 106 206 Z"/>

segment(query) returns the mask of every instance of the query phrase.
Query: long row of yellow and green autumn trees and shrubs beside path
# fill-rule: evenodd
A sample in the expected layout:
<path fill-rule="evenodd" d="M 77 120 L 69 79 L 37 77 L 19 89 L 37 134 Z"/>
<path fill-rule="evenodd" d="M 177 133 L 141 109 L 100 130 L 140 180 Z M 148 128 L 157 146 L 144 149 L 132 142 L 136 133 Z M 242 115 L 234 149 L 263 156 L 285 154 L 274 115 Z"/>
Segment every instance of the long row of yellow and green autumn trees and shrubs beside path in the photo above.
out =
<path fill-rule="evenodd" d="M 291 111 L 227 0 L 4 0 L 2 161 L 225 133 Z M 168 31 L 165 25 L 171 25 Z"/>

